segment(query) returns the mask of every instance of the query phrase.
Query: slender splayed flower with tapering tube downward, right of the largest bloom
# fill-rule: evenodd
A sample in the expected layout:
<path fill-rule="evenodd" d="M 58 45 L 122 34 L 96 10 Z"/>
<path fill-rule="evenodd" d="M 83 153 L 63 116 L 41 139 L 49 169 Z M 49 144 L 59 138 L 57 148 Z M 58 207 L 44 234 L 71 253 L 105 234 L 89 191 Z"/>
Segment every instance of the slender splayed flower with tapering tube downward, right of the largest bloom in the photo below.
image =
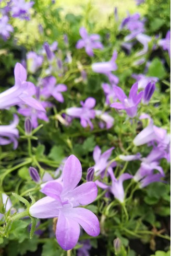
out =
<path fill-rule="evenodd" d="M 105 183 L 100 182 L 98 180 L 95 181 L 95 183 L 100 188 L 109 190 L 109 192 L 111 192 L 120 203 L 124 203 L 125 193 L 124 193 L 123 181 L 131 179 L 133 176 L 130 175 L 129 173 L 123 173 L 119 176 L 118 179 L 116 179 L 112 169 L 110 169 L 108 172 L 112 179 L 111 186 L 108 186 Z"/>

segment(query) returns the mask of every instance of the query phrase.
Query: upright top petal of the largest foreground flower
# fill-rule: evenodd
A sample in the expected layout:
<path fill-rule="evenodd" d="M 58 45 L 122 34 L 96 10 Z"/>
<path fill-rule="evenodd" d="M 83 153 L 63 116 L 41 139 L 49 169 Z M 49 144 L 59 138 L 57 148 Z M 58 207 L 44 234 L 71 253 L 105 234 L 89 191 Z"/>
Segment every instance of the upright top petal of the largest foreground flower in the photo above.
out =
<path fill-rule="evenodd" d="M 74 155 L 68 157 L 63 170 L 63 192 L 75 189 L 82 176 L 82 167 L 78 158 Z"/>

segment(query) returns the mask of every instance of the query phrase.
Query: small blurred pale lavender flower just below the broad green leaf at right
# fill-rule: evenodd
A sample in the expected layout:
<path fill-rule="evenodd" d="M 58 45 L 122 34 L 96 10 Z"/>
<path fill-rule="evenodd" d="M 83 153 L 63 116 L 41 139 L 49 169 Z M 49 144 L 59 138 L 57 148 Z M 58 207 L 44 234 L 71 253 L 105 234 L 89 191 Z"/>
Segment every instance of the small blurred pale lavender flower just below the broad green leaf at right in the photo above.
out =
<path fill-rule="evenodd" d="M 156 83 L 158 81 L 157 77 L 153 76 L 145 76 L 143 74 L 132 74 L 132 77 L 135 78 L 138 82 L 138 89 L 145 89 L 145 87 L 149 84 L 149 82 Z"/>

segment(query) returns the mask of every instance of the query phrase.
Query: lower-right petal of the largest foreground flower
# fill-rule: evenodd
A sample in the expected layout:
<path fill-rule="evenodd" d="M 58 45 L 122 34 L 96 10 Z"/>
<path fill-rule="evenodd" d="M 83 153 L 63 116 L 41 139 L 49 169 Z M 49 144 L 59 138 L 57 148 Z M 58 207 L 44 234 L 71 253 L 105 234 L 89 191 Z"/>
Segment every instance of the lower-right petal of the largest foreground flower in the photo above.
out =
<path fill-rule="evenodd" d="M 99 220 L 94 213 L 85 208 L 72 208 L 69 217 L 80 224 L 88 235 L 96 237 L 100 234 Z"/>

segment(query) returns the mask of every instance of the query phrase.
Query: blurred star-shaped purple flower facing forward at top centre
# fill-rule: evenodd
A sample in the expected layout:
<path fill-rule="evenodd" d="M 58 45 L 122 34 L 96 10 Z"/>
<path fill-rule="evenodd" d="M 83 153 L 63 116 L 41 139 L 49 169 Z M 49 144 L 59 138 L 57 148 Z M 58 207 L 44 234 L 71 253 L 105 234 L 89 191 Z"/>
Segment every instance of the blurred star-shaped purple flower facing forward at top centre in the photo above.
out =
<path fill-rule="evenodd" d="M 99 34 L 88 34 L 86 28 L 80 28 L 80 36 L 82 39 L 78 40 L 76 44 L 77 49 L 85 48 L 89 56 L 93 56 L 93 49 L 103 49 Z"/>

